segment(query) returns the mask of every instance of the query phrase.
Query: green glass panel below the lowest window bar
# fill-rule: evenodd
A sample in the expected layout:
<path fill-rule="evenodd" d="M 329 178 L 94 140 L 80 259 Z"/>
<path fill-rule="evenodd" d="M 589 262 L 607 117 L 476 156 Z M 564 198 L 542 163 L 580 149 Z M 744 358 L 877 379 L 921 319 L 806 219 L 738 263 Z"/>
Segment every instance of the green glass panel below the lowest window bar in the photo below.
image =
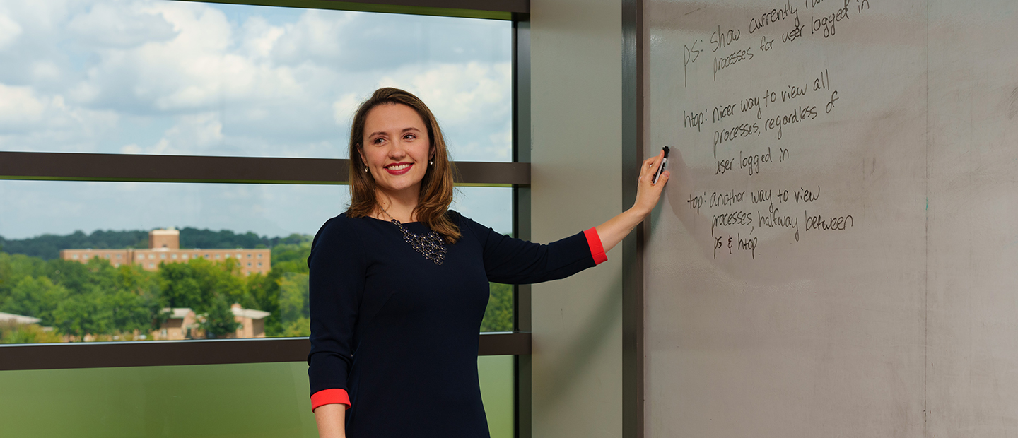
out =
<path fill-rule="evenodd" d="M 511 356 L 480 357 L 493 438 L 513 436 Z M 318 436 L 302 362 L 0 372 L 2 436 Z"/>

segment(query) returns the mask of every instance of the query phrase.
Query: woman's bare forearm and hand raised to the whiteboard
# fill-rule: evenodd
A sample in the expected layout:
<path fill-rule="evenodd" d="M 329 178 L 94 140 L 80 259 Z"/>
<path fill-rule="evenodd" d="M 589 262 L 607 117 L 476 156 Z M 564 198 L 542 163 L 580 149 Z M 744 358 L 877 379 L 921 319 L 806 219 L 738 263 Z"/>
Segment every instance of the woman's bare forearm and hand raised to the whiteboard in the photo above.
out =
<path fill-rule="evenodd" d="M 678 153 L 678 150 L 673 153 Z M 639 170 L 639 180 L 636 182 L 636 202 L 628 210 L 597 227 L 601 246 L 605 248 L 605 252 L 622 242 L 622 239 L 625 239 L 629 232 L 643 222 L 647 214 L 654 210 L 654 206 L 658 204 L 661 192 L 665 189 L 665 184 L 668 183 L 668 178 L 671 176 L 671 173 L 665 171 L 658 178 L 658 183 L 654 183 L 654 174 L 658 172 L 658 167 L 661 166 L 661 161 L 664 159 L 665 151 L 662 150 L 658 157 L 643 162 Z"/>

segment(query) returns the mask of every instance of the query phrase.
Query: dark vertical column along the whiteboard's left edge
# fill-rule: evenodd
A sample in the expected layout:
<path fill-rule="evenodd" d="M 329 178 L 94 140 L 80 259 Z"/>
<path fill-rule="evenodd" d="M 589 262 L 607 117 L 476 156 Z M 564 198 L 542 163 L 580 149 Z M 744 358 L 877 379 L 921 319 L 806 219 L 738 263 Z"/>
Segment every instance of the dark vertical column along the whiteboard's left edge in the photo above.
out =
<path fill-rule="evenodd" d="M 643 2 L 622 0 L 622 208 L 636 200 L 643 161 Z M 643 437 L 643 238 L 622 241 L 622 436 Z"/>

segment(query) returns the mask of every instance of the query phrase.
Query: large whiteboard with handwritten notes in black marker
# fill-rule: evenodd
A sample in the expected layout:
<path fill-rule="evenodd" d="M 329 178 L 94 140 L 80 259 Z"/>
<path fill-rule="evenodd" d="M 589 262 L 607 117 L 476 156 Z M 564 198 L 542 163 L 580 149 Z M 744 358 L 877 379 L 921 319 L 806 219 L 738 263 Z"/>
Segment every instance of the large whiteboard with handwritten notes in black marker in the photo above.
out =
<path fill-rule="evenodd" d="M 1018 2 L 643 11 L 646 436 L 1018 436 Z"/>

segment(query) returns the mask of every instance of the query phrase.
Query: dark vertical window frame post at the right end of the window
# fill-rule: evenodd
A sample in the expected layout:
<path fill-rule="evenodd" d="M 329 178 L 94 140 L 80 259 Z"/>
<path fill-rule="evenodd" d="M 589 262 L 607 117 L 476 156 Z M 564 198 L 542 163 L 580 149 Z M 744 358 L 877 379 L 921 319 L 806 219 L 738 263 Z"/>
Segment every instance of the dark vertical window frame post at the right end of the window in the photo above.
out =
<path fill-rule="evenodd" d="M 530 163 L 530 22 L 513 22 L 513 162 Z M 513 236 L 530 240 L 530 187 L 513 187 Z M 513 294 L 513 330 L 530 331 L 530 285 Z M 530 438 L 530 356 L 515 357 L 516 436 Z"/>

